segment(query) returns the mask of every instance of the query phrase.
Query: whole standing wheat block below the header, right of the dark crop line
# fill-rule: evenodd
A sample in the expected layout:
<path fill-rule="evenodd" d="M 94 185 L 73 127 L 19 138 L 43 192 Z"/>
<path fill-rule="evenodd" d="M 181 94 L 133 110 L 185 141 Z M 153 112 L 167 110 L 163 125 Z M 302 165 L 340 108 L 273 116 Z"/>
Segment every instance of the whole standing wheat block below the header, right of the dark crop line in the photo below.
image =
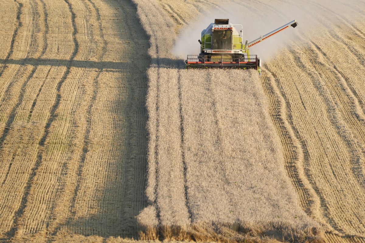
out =
<path fill-rule="evenodd" d="M 207 75 L 211 77 L 211 81 L 214 80 L 211 84 L 205 83 L 207 86 L 212 86 L 210 89 L 205 89 L 205 92 L 207 92 L 205 95 L 215 100 L 213 101 L 215 108 L 211 109 L 216 109 L 212 111 L 212 116 L 216 117 L 214 118 L 216 121 L 213 122 L 215 123 L 214 126 L 217 126 L 216 124 L 219 126 L 218 129 L 214 129 L 214 131 L 219 131 L 219 135 L 214 136 L 217 138 L 199 138 L 204 136 L 203 134 L 211 133 L 205 130 L 204 126 L 199 132 L 190 132 L 190 129 L 198 126 L 197 123 L 200 122 L 195 122 L 194 125 L 189 124 L 189 117 L 199 117 L 199 115 L 185 115 L 185 112 L 199 110 L 203 112 L 201 117 L 204 117 L 203 119 L 206 121 L 206 116 L 209 114 L 205 113 L 206 107 L 185 105 L 183 109 L 184 118 L 186 117 L 184 119 L 186 146 L 194 144 L 188 142 L 194 136 L 196 140 L 200 140 L 199 149 L 203 151 L 200 151 L 199 154 L 204 156 L 192 156 L 192 154 L 197 154 L 196 148 L 187 147 L 187 150 L 185 150 L 189 168 L 187 173 L 189 203 L 194 205 L 191 210 L 195 222 L 232 224 L 238 220 L 240 223 L 258 223 L 262 226 L 265 225 L 265 222 L 289 224 L 293 228 L 298 227 L 301 229 L 308 225 L 314 226 L 314 222 L 300 208 L 299 200 L 286 176 L 284 167 L 282 166 L 281 170 L 278 170 L 280 167 L 277 164 L 272 162 L 272 165 L 270 165 L 268 163 L 268 161 L 280 163 L 283 158 L 281 157 L 280 146 L 277 147 L 275 144 L 275 138 L 277 139 L 277 137 L 273 133 L 270 117 L 268 114 L 262 113 L 264 96 L 263 93 L 260 94 L 261 88 L 258 86 L 258 79 L 253 78 L 256 73 L 249 72 L 244 76 L 240 73 L 242 79 L 239 83 L 237 83 L 237 79 L 233 79 L 233 77 L 237 77 L 237 74 L 237 72 L 226 71 L 224 74 L 210 72 Z M 192 76 L 191 73 L 190 76 Z M 190 82 L 191 80 L 187 81 L 187 83 Z M 254 85 L 255 82 L 257 82 L 256 85 Z M 199 92 L 199 89 L 195 90 Z M 194 97 L 203 96 L 204 94 L 200 93 L 194 95 Z M 193 97 L 187 97 L 186 101 L 190 99 L 192 99 L 191 103 L 194 104 L 206 103 L 196 100 L 196 98 L 193 99 Z M 263 128 L 264 133 L 258 132 L 259 127 Z M 242 130 L 243 128 L 244 130 Z M 204 141 L 212 141 L 215 144 L 204 146 Z M 260 146 L 260 149 L 257 146 Z M 188 152 L 189 150 L 191 152 Z M 211 156 L 212 158 L 208 157 L 203 167 L 197 167 L 195 161 L 203 162 L 203 158 L 207 154 L 216 155 Z M 257 155 L 253 156 L 254 154 Z M 245 177 L 242 177 L 242 175 L 245 175 Z M 265 183 L 263 178 L 267 178 L 268 181 Z M 269 186 L 272 181 L 277 181 L 278 178 L 280 180 L 277 182 L 278 191 L 271 190 L 268 193 L 265 187 Z M 218 185 L 219 187 L 217 187 Z M 280 192 L 282 188 L 288 188 L 289 190 L 287 189 L 283 193 Z M 214 190 L 214 192 L 206 190 Z M 224 195 L 214 196 L 218 194 L 217 192 L 224 193 Z M 224 198 L 229 200 L 218 203 Z M 259 198 L 261 199 L 259 200 Z M 277 203 L 274 203 L 275 201 Z M 271 202 L 271 205 L 265 205 L 267 202 Z M 276 205 L 276 207 L 273 207 L 273 205 Z M 288 211 L 288 207 L 292 211 Z M 278 215 L 280 219 L 277 217 Z M 295 215 L 297 215 L 296 219 Z"/>

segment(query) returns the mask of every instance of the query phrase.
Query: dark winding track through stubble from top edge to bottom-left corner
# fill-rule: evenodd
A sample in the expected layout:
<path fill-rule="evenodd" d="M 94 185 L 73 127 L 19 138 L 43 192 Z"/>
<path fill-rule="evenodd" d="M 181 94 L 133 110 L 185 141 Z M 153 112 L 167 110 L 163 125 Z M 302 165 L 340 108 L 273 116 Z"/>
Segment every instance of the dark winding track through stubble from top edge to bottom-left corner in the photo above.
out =
<path fill-rule="evenodd" d="M 39 168 L 39 166 L 41 165 L 41 162 L 42 162 L 42 155 L 43 155 L 43 152 L 44 152 L 43 148 L 44 148 L 44 145 L 45 145 L 46 138 L 48 137 L 48 134 L 49 134 L 50 126 L 51 126 L 52 122 L 54 121 L 54 119 L 57 117 L 56 110 L 59 106 L 59 102 L 61 101 L 61 86 L 65 82 L 66 78 L 68 77 L 68 75 L 70 73 L 70 66 L 71 66 L 70 64 L 71 64 L 72 60 L 74 59 L 74 57 L 76 56 L 77 51 L 78 51 L 78 42 L 77 42 L 77 39 L 76 39 L 77 29 L 76 29 L 76 24 L 75 24 L 75 14 L 72 11 L 72 8 L 71 8 L 71 5 L 70 5 L 69 1 L 68 0 L 64 0 L 64 1 L 68 5 L 68 8 L 69 8 L 69 11 L 70 11 L 70 14 L 71 14 L 71 21 L 72 21 L 72 28 L 73 28 L 72 38 L 73 38 L 73 43 L 74 43 L 74 50 L 72 52 L 72 55 L 71 55 L 70 59 L 68 60 L 68 62 L 66 64 L 66 71 L 65 71 L 64 75 L 62 76 L 61 80 L 57 83 L 57 86 L 56 86 L 56 90 L 57 90 L 56 99 L 53 103 L 53 106 L 51 107 L 50 116 L 49 116 L 48 121 L 45 125 L 44 131 L 43 131 L 43 136 L 41 137 L 41 140 L 39 140 L 39 142 L 38 142 L 39 150 L 38 150 L 38 153 L 37 153 L 37 160 L 36 160 L 33 168 L 31 169 L 31 173 L 28 177 L 26 187 L 24 188 L 24 193 L 23 193 L 23 196 L 22 196 L 22 201 L 20 203 L 20 207 L 15 212 L 14 220 L 13 220 L 13 224 L 12 224 L 11 229 L 7 232 L 7 235 L 8 235 L 9 238 L 14 237 L 14 235 L 16 233 L 17 225 L 18 225 L 18 220 L 22 217 L 24 209 L 26 208 L 26 204 L 27 204 L 27 201 L 28 201 L 28 195 L 29 195 L 30 189 L 32 187 L 32 181 L 33 181 L 33 179 L 34 179 L 34 177 L 35 177 L 35 175 L 38 171 L 38 168 Z"/>

